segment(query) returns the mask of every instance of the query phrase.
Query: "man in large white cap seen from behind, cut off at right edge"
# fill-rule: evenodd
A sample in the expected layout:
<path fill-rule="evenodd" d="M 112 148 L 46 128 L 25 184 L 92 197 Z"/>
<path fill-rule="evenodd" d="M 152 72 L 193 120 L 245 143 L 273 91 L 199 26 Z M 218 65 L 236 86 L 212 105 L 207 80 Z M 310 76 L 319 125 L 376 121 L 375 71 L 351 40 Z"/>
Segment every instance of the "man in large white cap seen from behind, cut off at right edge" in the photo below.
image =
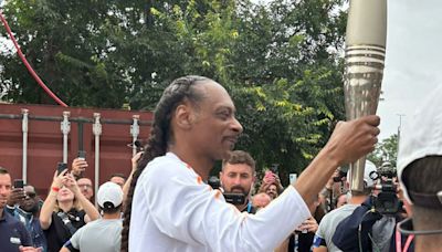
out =
<path fill-rule="evenodd" d="M 398 177 L 412 220 L 399 225 L 414 234 L 414 251 L 442 248 L 442 86 L 425 99 L 401 133 Z"/>

